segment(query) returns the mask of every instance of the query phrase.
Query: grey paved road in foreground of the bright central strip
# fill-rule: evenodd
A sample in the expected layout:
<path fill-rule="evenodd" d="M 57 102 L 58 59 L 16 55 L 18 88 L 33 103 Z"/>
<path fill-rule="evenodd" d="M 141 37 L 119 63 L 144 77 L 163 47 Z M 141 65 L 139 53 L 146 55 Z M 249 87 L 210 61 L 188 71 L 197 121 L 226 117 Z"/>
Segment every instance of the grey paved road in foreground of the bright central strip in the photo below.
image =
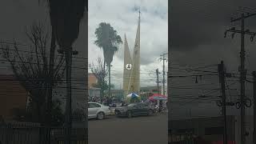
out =
<path fill-rule="evenodd" d="M 90 144 L 167 144 L 167 114 L 89 120 Z"/>

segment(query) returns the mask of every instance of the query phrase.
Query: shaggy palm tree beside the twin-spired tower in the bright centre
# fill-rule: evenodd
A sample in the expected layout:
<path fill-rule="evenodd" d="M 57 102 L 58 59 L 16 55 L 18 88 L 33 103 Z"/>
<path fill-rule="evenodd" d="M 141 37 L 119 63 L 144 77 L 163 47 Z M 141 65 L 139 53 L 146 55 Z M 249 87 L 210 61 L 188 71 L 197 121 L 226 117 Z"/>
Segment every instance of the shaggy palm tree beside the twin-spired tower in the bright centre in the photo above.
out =
<path fill-rule="evenodd" d="M 119 45 L 122 44 L 121 37 L 117 34 L 110 23 L 101 22 L 95 30 L 97 40 L 94 44 L 103 50 L 104 68 L 105 65 L 109 68 L 109 96 L 110 94 L 110 66 L 113 61 L 114 53 L 119 50 Z"/>

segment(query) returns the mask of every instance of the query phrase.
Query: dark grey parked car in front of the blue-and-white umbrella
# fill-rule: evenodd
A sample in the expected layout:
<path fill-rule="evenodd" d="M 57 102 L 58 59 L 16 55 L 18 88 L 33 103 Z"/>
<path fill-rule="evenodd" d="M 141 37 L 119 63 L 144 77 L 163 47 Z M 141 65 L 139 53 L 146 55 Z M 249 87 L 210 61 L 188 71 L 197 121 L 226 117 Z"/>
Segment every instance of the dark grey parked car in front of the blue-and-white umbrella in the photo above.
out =
<path fill-rule="evenodd" d="M 117 107 L 114 110 L 117 116 L 126 116 L 128 118 L 140 115 L 152 115 L 153 109 L 146 103 L 132 103 L 128 106 Z"/>

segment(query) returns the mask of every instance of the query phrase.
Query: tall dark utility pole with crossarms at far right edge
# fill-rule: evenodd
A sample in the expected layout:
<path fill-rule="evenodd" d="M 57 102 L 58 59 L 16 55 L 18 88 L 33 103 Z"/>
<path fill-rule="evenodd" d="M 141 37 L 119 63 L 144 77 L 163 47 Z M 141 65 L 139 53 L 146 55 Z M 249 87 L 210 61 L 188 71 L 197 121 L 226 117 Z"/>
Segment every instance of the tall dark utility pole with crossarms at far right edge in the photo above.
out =
<path fill-rule="evenodd" d="M 240 71 L 240 100 L 241 100 L 241 144 L 244 144 L 246 142 L 246 125 L 245 125 L 245 81 L 246 81 L 246 69 L 245 69 L 245 35 L 250 35 L 250 41 L 252 42 L 254 40 L 254 36 L 256 33 L 250 32 L 250 30 L 245 30 L 245 19 L 250 18 L 251 16 L 254 16 L 255 14 L 250 14 L 247 12 L 246 14 L 242 13 L 241 17 L 239 18 L 231 18 L 231 22 L 237 22 L 241 21 L 241 30 L 235 30 L 235 27 L 230 28 L 229 30 L 225 31 L 225 38 L 226 33 L 231 32 L 232 38 L 234 38 L 234 34 L 238 33 L 241 34 L 241 51 L 240 51 L 240 58 L 241 58 L 241 66 L 239 66 Z"/>

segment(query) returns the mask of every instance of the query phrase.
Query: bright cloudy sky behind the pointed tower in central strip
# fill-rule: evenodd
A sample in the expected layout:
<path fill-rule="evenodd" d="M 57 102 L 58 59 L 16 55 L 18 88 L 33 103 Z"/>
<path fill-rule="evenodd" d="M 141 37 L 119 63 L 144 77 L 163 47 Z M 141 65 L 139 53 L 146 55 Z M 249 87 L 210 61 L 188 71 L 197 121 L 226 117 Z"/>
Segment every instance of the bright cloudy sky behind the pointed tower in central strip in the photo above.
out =
<path fill-rule="evenodd" d="M 155 70 L 162 71 L 160 54 L 168 47 L 168 1 L 167 0 L 90 0 L 88 19 L 88 58 L 95 62 L 103 58 L 102 50 L 94 45 L 94 31 L 100 22 L 108 22 L 124 41 L 124 34 L 133 54 L 138 26 L 138 10 L 141 8 L 141 86 L 156 86 Z M 114 55 L 111 68 L 112 82 L 116 89 L 122 87 L 123 45 Z M 167 64 L 166 64 L 167 65 Z M 167 69 L 167 66 L 166 66 Z M 162 78 L 162 77 L 161 77 Z"/>

